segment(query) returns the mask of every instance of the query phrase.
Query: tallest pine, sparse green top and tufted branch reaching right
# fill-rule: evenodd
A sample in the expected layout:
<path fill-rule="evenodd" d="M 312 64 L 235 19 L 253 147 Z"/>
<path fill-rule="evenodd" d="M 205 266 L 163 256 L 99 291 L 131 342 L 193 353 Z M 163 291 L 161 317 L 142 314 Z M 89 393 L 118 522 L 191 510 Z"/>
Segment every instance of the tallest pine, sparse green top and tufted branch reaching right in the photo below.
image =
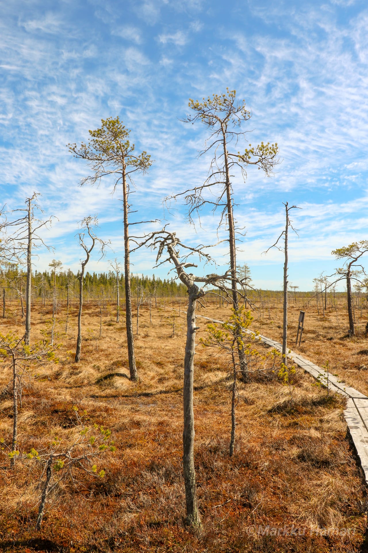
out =
<path fill-rule="evenodd" d="M 228 231 L 232 303 L 234 309 L 238 309 L 236 232 L 239 232 L 240 229 L 236 227 L 233 213 L 232 171 L 239 169 L 241 177 L 246 180 L 248 166 L 255 165 L 258 169 L 262 169 L 266 176 L 270 176 L 274 166 L 279 163 L 279 148 L 277 143 L 264 144 L 261 142 L 257 147 L 252 147 L 249 144 L 249 147 L 244 149 L 244 153 L 237 150 L 239 140 L 244 139 L 247 132 L 241 131 L 241 125 L 250 119 L 251 113 L 246 109 L 245 100 L 236 99 L 235 90 L 226 88 L 226 93 L 214 94 L 207 99 L 203 98 L 202 102 L 190 99 L 188 105 L 194 114 L 187 115 L 182 121 L 185 123 L 199 121 L 210 129 L 205 148 L 199 154 L 200 156 L 207 153 L 213 155 L 209 175 L 204 184 L 169 196 L 165 201 L 169 206 L 171 200 L 184 196 L 191 223 L 194 223 L 194 215 L 199 215 L 200 210 L 205 206 L 211 206 L 213 212 L 220 209 L 218 228 L 226 226 Z M 230 150 L 232 142 L 236 148 Z M 247 366 L 241 347 L 240 332 L 237 343 L 241 356 L 243 380 L 246 382 L 248 380 Z"/>

